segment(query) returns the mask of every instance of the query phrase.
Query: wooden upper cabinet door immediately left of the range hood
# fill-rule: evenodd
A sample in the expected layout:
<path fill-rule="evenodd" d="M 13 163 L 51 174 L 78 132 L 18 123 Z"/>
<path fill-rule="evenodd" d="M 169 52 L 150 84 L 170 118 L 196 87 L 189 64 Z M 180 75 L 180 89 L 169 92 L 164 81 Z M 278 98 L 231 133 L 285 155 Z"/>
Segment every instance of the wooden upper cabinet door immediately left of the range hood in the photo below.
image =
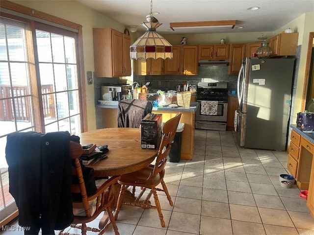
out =
<path fill-rule="evenodd" d="M 198 47 L 197 46 L 183 46 L 181 48 L 181 74 L 196 75 L 198 74 Z"/>

